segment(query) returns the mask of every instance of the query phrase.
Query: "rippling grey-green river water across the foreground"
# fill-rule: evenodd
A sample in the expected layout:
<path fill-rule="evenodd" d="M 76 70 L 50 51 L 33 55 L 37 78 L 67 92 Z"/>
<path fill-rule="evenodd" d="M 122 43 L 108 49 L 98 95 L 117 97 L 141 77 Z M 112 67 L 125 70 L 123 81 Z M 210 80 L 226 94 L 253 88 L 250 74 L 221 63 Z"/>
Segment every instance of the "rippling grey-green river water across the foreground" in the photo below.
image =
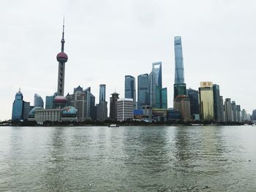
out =
<path fill-rule="evenodd" d="M 0 127 L 0 191 L 256 191 L 256 128 Z"/>

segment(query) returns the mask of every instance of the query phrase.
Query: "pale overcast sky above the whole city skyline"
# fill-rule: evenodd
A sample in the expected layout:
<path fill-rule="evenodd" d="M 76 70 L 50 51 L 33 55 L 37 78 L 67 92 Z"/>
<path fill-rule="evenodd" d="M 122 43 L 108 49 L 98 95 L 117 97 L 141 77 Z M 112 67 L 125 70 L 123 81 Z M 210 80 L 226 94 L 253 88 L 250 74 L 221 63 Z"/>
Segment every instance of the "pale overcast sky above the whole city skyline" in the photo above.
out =
<path fill-rule="evenodd" d="M 224 98 L 256 108 L 255 0 L 76 0 L 0 3 L 0 120 L 10 119 L 15 93 L 34 104 L 34 93 L 56 92 L 65 15 L 65 95 L 99 84 L 124 97 L 124 75 L 150 73 L 162 61 L 162 82 L 173 106 L 173 39 L 181 36 L 187 88 L 220 85 Z M 136 85 L 137 87 L 137 85 Z"/>

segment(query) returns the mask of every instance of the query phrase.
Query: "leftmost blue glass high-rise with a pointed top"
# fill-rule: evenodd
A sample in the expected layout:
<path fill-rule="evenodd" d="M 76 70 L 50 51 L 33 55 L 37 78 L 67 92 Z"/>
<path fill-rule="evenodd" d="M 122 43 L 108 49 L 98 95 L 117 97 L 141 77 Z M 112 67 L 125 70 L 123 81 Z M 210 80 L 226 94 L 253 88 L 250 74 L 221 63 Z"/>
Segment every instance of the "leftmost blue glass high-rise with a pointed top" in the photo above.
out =
<path fill-rule="evenodd" d="M 23 119 L 23 102 L 23 94 L 19 90 L 12 104 L 12 120 Z"/>

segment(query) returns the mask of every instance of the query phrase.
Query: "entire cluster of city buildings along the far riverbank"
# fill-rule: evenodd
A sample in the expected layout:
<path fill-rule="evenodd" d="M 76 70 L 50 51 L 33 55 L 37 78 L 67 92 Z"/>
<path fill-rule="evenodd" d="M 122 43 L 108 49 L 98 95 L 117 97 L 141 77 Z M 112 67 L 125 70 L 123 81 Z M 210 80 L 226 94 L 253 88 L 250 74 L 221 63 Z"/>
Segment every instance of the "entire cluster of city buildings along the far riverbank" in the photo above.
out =
<path fill-rule="evenodd" d="M 46 96 L 45 108 L 41 96 L 34 94 L 34 106 L 23 101 L 18 91 L 12 105 L 12 120 L 45 121 L 84 121 L 84 120 L 204 120 L 217 122 L 246 122 L 251 115 L 241 110 L 240 105 L 231 99 L 220 96 L 219 85 L 213 82 L 200 82 L 200 88 L 187 89 L 184 80 L 184 63 L 181 37 L 174 38 L 175 81 L 173 84 L 173 108 L 167 107 L 167 88 L 162 88 L 162 62 L 152 64 L 148 74 L 140 74 L 136 89 L 136 80 L 132 75 L 124 77 L 124 98 L 119 93 L 106 101 L 106 85 L 99 85 L 99 103 L 91 88 L 74 88 L 73 93 L 64 96 L 65 64 L 68 56 L 64 53 L 64 25 L 61 39 L 61 52 L 56 56 L 59 62 L 58 90 L 52 96 Z M 256 120 L 256 110 L 252 112 Z"/>

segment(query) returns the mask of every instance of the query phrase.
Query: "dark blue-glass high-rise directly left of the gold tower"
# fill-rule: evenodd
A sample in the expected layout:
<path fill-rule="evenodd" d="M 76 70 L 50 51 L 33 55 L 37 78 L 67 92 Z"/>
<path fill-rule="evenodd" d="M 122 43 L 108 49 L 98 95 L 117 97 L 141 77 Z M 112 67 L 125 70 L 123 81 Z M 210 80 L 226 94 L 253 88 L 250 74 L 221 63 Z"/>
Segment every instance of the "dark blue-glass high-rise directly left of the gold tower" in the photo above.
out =
<path fill-rule="evenodd" d="M 193 120 L 200 119 L 198 91 L 192 88 L 187 89 L 187 96 L 190 99 L 190 115 Z"/>

